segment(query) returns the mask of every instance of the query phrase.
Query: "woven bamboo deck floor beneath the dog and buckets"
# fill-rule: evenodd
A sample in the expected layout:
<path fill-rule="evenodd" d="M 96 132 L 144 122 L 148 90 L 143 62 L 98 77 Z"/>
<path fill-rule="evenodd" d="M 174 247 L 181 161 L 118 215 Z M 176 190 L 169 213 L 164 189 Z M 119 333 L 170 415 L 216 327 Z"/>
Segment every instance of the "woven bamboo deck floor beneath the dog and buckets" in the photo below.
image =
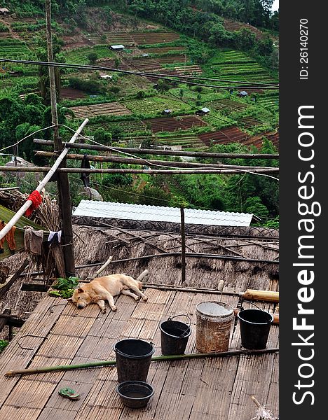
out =
<path fill-rule="evenodd" d="M 115 358 L 113 345 L 126 337 L 153 342 L 160 355 L 161 320 L 189 314 L 192 334 L 186 353 L 196 352 L 196 304 L 224 300 L 235 307 L 236 296 L 146 289 L 148 302 L 119 296 L 118 310 L 102 314 L 96 304 L 78 310 L 64 300 L 45 297 L 0 356 L 0 419 L 11 420 L 250 420 L 255 395 L 278 416 L 278 353 L 152 362 L 148 381 L 155 394 L 143 409 L 123 407 L 116 394 L 116 367 L 97 367 L 4 377 L 8 370 L 68 365 Z M 272 304 L 259 304 L 273 311 Z M 246 307 L 246 304 L 245 304 Z M 183 318 L 182 318 L 183 321 Z M 268 347 L 278 346 L 276 325 Z M 229 349 L 240 349 L 239 325 Z M 62 398 L 64 386 L 80 400 Z"/>

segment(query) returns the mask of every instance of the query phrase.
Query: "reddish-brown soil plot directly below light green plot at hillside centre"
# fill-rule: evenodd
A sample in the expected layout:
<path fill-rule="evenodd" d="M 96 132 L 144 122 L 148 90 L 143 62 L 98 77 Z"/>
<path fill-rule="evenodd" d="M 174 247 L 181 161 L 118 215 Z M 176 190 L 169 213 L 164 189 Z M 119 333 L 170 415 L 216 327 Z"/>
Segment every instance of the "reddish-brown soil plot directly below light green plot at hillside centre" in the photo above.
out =
<path fill-rule="evenodd" d="M 207 125 L 197 116 L 153 118 L 152 120 L 145 120 L 144 123 L 146 123 L 146 125 L 150 125 L 151 130 L 154 133 L 189 130 L 195 126 L 204 127 Z"/>

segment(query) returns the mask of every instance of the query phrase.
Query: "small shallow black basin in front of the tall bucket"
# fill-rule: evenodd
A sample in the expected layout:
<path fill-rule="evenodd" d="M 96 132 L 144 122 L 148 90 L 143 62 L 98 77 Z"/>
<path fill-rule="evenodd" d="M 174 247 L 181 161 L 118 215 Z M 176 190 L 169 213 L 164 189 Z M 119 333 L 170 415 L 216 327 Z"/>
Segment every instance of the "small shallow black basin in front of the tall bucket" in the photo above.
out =
<path fill-rule="evenodd" d="M 125 381 L 116 386 L 116 392 L 126 407 L 142 408 L 153 396 L 153 387 L 144 381 Z"/>

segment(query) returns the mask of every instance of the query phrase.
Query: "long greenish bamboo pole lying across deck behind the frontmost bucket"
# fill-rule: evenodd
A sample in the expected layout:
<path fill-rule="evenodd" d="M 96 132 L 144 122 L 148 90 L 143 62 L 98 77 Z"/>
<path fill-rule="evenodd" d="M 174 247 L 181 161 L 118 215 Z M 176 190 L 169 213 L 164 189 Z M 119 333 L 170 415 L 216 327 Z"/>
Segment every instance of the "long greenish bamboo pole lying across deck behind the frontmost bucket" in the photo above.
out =
<path fill-rule="evenodd" d="M 191 354 L 177 354 L 174 356 L 154 356 L 151 358 L 152 362 L 168 361 L 168 360 L 189 360 L 191 358 L 216 358 L 216 357 L 229 357 L 229 356 L 242 356 L 242 355 L 261 355 L 267 353 L 276 353 L 278 348 L 264 349 L 264 350 L 231 350 L 221 351 L 221 353 L 191 353 Z M 9 370 L 4 374 L 5 377 L 13 377 L 18 374 L 36 374 L 45 372 L 57 372 L 58 370 L 74 370 L 86 369 L 88 367 L 102 367 L 116 365 L 116 360 L 104 360 L 101 362 L 82 363 L 80 365 L 58 365 L 58 366 L 44 366 L 36 367 L 35 369 L 21 369 Z"/>

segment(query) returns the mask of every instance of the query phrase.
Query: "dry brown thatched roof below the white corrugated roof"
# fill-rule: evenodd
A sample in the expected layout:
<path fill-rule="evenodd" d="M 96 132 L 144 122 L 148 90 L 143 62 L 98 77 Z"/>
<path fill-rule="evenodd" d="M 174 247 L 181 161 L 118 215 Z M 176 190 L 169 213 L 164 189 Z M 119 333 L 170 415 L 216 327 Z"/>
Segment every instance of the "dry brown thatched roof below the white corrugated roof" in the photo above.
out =
<path fill-rule="evenodd" d="M 152 283 L 181 284 L 181 239 L 177 233 L 88 226 L 75 226 L 74 232 L 76 266 L 104 262 L 112 255 L 103 274 L 138 276 L 148 269 Z M 216 289 L 224 280 L 225 290 L 243 290 L 257 288 L 265 279 L 272 290 L 277 287 L 278 239 L 186 235 L 186 253 L 188 286 Z M 158 254 L 162 255 L 149 256 Z M 78 276 L 86 278 L 99 267 L 78 269 Z"/>

